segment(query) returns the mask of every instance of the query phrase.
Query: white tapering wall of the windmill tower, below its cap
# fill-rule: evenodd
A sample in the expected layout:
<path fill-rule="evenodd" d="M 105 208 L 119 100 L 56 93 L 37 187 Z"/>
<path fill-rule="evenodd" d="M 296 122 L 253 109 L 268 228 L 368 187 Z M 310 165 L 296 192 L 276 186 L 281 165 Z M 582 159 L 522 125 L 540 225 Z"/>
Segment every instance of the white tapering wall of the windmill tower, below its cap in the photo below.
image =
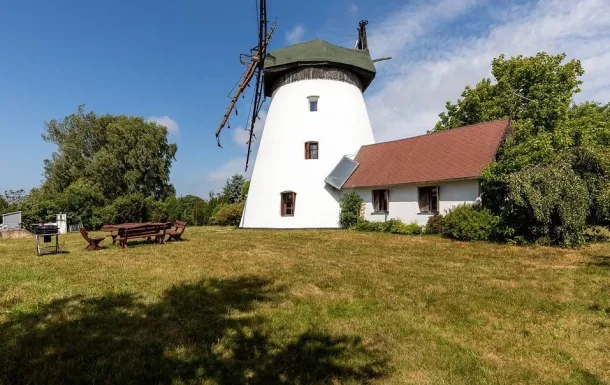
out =
<path fill-rule="evenodd" d="M 318 111 L 309 111 L 318 96 Z M 305 142 L 319 142 L 316 160 Z M 278 88 L 269 106 L 242 217 L 245 228 L 337 228 L 341 193 L 324 183 L 344 155 L 374 143 L 360 89 L 335 80 L 302 80 Z M 283 191 L 296 195 L 294 217 L 281 216 Z"/>

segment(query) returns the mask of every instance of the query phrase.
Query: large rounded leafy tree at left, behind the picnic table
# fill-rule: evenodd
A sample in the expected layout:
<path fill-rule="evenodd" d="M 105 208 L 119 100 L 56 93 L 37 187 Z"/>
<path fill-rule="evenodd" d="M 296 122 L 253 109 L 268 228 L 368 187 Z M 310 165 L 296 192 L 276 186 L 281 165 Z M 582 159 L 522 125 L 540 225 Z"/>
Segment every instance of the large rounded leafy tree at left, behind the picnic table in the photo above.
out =
<path fill-rule="evenodd" d="M 45 160 L 44 188 L 61 193 L 78 180 L 95 186 L 107 199 L 142 194 L 174 194 L 170 167 L 177 147 L 167 129 L 141 117 L 78 111 L 45 125 L 43 139 L 57 145 Z"/>

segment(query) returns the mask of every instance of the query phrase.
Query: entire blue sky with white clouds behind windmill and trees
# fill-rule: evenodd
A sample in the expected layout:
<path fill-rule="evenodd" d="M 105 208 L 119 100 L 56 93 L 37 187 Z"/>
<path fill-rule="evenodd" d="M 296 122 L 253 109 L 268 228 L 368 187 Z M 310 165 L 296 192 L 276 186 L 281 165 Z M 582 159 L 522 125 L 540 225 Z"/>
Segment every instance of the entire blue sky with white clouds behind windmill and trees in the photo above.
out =
<path fill-rule="evenodd" d="M 272 48 L 316 37 L 348 44 L 358 21 L 370 21 L 374 56 L 394 57 L 366 95 L 377 140 L 424 132 L 500 53 L 566 52 L 587 71 L 579 98 L 610 100 L 608 0 L 268 3 L 279 23 Z M 243 71 L 239 53 L 256 41 L 254 0 L 0 0 L 0 9 L 0 191 L 40 184 L 54 150 L 40 137 L 44 122 L 79 104 L 168 125 L 179 194 L 206 196 L 243 171 L 235 132 L 245 122 L 232 120 L 224 149 L 214 131 Z"/>

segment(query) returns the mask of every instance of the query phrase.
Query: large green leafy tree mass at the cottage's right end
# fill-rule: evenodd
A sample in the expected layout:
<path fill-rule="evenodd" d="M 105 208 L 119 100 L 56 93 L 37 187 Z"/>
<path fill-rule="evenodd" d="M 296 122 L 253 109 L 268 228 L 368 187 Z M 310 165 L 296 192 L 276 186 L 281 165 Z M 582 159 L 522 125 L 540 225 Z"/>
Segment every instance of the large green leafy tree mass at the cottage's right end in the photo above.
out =
<path fill-rule="evenodd" d="M 610 221 L 610 104 L 574 104 L 578 60 L 540 53 L 493 60 L 494 79 L 448 102 L 434 131 L 510 117 L 511 135 L 482 180 L 507 235 L 574 245 Z"/>

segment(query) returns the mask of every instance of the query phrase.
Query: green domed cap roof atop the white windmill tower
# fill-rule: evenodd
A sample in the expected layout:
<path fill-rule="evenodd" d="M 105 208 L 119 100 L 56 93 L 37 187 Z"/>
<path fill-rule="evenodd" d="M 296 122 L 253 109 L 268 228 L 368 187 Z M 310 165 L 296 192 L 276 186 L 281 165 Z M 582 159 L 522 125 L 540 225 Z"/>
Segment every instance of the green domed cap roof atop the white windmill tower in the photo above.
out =
<path fill-rule="evenodd" d="M 316 39 L 295 44 L 267 54 L 265 58 L 265 94 L 283 73 L 298 67 L 332 66 L 356 73 L 362 80 L 363 91 L 375 78 L 375 65 L 369 50 L 343 48 Z"/>

